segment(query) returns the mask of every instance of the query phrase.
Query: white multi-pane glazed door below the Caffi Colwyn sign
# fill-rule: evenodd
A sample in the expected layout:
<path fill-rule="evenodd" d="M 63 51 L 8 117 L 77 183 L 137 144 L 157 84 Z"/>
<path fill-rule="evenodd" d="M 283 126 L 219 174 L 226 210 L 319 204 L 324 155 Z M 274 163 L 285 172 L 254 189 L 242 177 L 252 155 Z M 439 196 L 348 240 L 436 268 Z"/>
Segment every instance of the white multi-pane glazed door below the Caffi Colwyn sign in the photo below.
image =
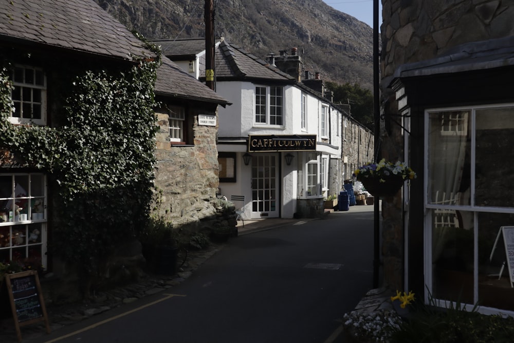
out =
<path fill-rule="evenodd" d="M 252 158 L 251 218 L 278 218 L 277 155 L 254 154 Z"/>

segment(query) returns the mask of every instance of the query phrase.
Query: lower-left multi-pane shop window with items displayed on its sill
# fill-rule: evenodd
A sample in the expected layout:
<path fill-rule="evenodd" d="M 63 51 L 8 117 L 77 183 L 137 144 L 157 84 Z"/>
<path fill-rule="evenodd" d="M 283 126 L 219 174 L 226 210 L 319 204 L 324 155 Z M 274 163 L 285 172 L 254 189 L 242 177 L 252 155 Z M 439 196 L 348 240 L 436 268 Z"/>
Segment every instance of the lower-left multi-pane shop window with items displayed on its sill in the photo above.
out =
<path fill-rule="evenodd" d="M 45 212 L 44 174 L 0 174 L 0 262 L 46 265 Z"/>

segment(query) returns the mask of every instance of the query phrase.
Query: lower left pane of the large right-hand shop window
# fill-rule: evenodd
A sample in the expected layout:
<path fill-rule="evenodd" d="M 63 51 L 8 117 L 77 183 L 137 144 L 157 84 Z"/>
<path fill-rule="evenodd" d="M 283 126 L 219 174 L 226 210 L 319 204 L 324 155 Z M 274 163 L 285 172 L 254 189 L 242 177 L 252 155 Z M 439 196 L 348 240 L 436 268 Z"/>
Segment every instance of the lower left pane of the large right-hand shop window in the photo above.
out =
<path fill-rule="evenodd" d="M 461 218 L 471 218 L 464 228 Z M 473 303 L 472 213 L 432 210 L 433 292 L 436 299 Z"/>

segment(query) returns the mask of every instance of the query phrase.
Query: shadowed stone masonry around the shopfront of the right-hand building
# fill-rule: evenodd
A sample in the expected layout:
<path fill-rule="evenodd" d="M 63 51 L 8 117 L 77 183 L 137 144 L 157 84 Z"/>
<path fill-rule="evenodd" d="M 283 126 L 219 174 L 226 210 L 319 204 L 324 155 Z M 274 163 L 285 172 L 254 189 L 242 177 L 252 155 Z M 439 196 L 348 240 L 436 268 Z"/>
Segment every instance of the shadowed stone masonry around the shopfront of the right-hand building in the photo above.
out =
<path fill-rule="evenodd" d="M 382 0 L 381 112 L 399 114 L 388 86 L 400 65 L 435 58 L 460 44 L 512 35 L 513 17 L 514 5 L 507 0 Z M 383 121 L 381 128 L 382 156 L 391 160 L 401 158 L 402 129 L 392 124 L 386 132 Z M 403 286 L 400 195 L 382 202 L 384 283 L 393 289 Z"/>

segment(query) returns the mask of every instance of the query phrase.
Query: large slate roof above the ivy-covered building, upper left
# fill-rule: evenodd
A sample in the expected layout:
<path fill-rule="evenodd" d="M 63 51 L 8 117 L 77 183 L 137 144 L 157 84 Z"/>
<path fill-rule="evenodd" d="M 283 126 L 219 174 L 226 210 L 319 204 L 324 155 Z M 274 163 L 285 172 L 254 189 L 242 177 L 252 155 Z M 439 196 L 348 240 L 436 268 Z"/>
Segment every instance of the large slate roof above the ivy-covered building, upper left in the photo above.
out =
<path fill-rule="evenodd" d="M 152 56 L 93 0 L 0 0 L 0 40 L 25 40 L 97 55 Z"/>

